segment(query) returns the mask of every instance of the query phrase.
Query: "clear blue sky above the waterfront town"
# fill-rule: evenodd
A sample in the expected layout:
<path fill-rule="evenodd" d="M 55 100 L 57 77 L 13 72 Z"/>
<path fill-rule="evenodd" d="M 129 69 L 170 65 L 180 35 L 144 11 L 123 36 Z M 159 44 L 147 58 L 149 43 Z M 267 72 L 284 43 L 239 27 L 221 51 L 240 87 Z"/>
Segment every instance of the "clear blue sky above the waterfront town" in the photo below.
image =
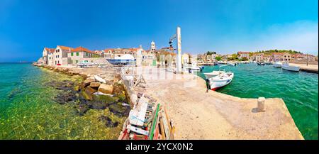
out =
<path fill-rule="evenodd" d="M 177 26 L 186 53 L 318 55 L 318 0 L 0 0 L 0 62 L 35 61 L 56 45 L 162 48 Z"/>

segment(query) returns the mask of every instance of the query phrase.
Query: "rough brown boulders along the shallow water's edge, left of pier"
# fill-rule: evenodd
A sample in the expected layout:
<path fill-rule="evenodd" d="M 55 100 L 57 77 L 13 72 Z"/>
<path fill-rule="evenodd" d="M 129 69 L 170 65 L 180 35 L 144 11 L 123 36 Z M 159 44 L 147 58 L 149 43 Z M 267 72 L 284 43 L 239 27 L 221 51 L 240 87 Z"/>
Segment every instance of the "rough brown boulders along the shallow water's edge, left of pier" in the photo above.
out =
<path fill-rule="evenodd" d="M 61 72 L 70 77 L 82 77 L 82 82 L 64 80 L 45 83 L 47 86 L 60 90 L 60 93 L 55 97 L 57 103 L 74 106 L 79 116 L 84 116 L 90 109 L 108 109 L 118 117 L 128 116 L 130 105 L 119 75 L 79 72 L 77 68 L 34 65 L 46 70 Z M 103 121 L 106 127 L 116 127 L 119 124 L 119 121 L 113 121 L 108 116 L 100 116 L 99 121 Z"/>

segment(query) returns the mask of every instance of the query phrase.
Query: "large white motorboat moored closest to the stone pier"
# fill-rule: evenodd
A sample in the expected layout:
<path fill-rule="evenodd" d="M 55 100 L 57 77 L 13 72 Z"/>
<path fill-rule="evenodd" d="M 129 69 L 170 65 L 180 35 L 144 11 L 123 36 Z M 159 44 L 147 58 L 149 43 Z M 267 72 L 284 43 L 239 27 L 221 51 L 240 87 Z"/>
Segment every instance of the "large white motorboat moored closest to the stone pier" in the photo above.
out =
<path fill-rule="evenodd" d="M 234 73 L 226 72 L 216 77 L 211 77 L 208 79 L 208 83 L 211 87 L 211 90 L 215 91 L 221 87 L 225 87 L 227 84 L 233 81 Z"/>

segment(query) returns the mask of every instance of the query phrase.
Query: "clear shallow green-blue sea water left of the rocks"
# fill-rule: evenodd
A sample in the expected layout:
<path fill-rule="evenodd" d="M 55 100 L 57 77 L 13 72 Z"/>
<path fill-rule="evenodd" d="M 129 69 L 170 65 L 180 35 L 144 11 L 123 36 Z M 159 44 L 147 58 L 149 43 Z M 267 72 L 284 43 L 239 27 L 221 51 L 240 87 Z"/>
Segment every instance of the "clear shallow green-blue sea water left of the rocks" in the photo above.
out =
<path fill-rule="evenodd" d="M 43 70 L 30 63 L 0 63 L 0 139 L 117 139 L 122 117 L 105 110 L 89 110 L 79 116 L 71 104 L 58 104 L 60 90 L 46 82 L 81 77 Z M 107 128 L 99 116 L 120 121 Z M 121 122 L 122 121 L 122 122 Z"/>

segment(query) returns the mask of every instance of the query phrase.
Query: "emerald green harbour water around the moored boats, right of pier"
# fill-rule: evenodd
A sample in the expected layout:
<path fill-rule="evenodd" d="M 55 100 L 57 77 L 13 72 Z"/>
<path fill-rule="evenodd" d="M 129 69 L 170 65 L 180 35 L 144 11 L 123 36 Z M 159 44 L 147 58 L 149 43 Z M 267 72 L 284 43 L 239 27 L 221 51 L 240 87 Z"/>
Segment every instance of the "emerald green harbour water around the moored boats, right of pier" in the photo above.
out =
<path fill-rule="evenodd" d="M 206 66 L 203 72 L 218 70 Z M 221 67 L 235 73 L 233 82 L 218 92 L 242 98 L 282 98 L 305 139 L 318 139 L 318 74 L 290 72 L 254 63 Z M 198 72 L 205 79 L 203 72 Z"/>

